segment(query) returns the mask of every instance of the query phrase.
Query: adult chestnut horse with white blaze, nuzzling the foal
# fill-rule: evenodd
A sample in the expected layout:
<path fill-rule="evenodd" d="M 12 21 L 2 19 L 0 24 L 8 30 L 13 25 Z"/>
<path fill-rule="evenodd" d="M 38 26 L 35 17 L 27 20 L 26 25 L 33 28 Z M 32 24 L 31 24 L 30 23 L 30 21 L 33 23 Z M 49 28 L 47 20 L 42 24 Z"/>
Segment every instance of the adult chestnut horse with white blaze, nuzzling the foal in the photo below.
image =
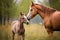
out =
<path fill-rule="evenodd" d="M 43 19 L 48 34 L 53 34 L 54 31 L 60 31 L 60 11 L 32 2 L 27 19 L 30 20 L 37 14 Z"/>

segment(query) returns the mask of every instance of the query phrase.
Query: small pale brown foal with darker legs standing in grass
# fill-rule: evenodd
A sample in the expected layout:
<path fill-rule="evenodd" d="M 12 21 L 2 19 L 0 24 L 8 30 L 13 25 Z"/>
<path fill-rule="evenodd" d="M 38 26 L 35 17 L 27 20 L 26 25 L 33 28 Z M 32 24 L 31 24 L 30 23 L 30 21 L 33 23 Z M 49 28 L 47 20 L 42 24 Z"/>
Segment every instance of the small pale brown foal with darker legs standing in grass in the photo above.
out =
<path fill-rule="evenodd" d="M 12 22 L 12 37 L 14 40 L 14 36 L 15 34 L 18 34 L 19 36 L 22 36 L 22 40 L 24 40 L 24 36 L 25 36 L 25 28 L 23 23 L 28 24 L 29 21 L 27 20 L 26 16 L 24 16 L 24 14 L 20 13 L 20 16 L 18 18 L 17 21 L 13 21 Z M 20 39 L 21 40 L 21 39 Z"/>

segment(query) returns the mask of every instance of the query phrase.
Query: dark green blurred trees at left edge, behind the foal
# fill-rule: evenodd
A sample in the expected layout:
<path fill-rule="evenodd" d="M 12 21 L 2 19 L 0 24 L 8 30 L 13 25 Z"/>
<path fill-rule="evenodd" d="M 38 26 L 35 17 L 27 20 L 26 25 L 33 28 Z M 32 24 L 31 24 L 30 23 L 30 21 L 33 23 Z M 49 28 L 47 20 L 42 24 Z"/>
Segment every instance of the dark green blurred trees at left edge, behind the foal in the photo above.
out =
<path fill-rule="evenodd" d="M 9 21 L 9 18 L 14 17 L 16 6 L 13 0 L 0 0 L 0 23 Z"/>

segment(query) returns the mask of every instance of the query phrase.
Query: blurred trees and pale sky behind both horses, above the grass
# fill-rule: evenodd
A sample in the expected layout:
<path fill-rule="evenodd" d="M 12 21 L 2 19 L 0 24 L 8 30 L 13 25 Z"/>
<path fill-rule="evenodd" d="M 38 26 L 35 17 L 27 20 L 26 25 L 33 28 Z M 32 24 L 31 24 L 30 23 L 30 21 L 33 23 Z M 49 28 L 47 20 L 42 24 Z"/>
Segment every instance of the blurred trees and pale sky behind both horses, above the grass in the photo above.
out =
<path fill-rule="evenodd" d="M 10 20 L 16 20 L 19 12 L 27 15 L 31 1 L 60 10 L 60 0 L 0 0 L 0 24 L 6 24 Z M 31 20 L 31 23 L 41 23 L 42 19 L 39 18 L 40 16 L 37 15 Z"/>

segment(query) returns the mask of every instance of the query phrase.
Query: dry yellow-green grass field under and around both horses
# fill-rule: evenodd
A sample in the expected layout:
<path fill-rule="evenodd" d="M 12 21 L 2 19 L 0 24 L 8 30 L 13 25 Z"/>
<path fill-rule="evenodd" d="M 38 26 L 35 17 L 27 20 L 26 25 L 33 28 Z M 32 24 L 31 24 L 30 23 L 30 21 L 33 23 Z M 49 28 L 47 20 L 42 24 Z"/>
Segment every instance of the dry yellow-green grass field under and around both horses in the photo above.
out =
<path fill-rule="evenodd" d="M 54 32 L 53 38 L 49 38 L 43 25 L 25 25 L 25 40 L 60 40 L 60 32 Z M 18 36 L 15 36 L 17 40 Z M 0 27 L 0 40 L 12 40 L 11 26 Z"/>

